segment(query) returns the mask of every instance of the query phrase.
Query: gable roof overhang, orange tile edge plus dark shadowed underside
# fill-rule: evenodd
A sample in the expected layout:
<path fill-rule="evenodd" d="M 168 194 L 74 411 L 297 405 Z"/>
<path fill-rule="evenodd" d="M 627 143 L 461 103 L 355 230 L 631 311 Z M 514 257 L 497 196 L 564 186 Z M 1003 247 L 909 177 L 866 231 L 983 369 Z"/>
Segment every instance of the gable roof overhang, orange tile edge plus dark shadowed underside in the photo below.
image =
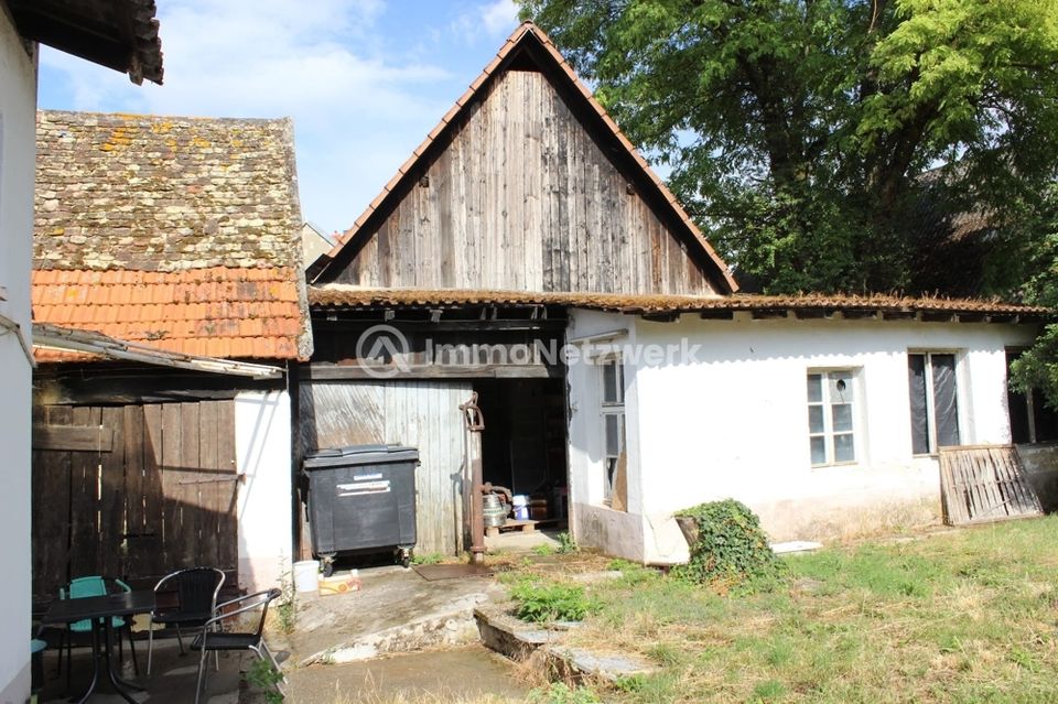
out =
<path fill-rule="evenodd" d="M 582 108 L 581 112 L 591 116 L 596 123 L 594 132 L 597 138 L 612 143 L 614 154 L 619 153 L 634 163 L 631 176 L 637 180 L 637 188 L 645 195 L 651 196 L 655 202 L 662 204 L 662 207 L 668 208 L 681 227 L 685 228 L 690 235 L 688 240 L 691 246 L 698 248 L 703 258 L 715 267 L 716 278 L 728 289 L 724 293 L 737 291 L 738 284 L 727 266 L 716 254 L 687 212 L 683 210 L 676 196 L 654 173 L 646 160 L 628 141 L 617 123 L 606 113 L 606 110 L 595 99 L 587 86 L 576 77 L 573 68 L 562 57 L 548 35 L 531 22 L 525 22 L 515 30 L 496 54 L 496 57 L 471 84 L 466 93 L 455 101 L 455 106 L 441 118 L 441 122 L 430 131 L 427 139 L 414 150 L 408 161 L 398 169 L 397 174 L 386 184 L 378 197 L 367 206 L 367 209 L 356 219 L 353 227 L 338 236 L 338 243 L 334 249 L 310 267 L 310 280 L 321 281 L 325 279 L 325 273 L 335 260 L 339 257 L 349 257 L 349 252 L 355 252 L 364 245 L 367 238 L 373 235 L 369 224 L 374 218 L 380 217 L 381 214 L 391 208 L 407 180 L 418 177 L 417 172 L 421 170 L 419 169 L 420 162 L 427 160 L 429 154 L 436 149 L 435 144 L 444 143 L 457 126 L 464 121 L 468 111 L 485 93 L 487 84 L 511 68 L 518 61 L 536 62 L 547 71 L 552 80 L 561 82 L 569 88 L 565 91 L 568 96 L 581 104 L 577 106 Z"/>

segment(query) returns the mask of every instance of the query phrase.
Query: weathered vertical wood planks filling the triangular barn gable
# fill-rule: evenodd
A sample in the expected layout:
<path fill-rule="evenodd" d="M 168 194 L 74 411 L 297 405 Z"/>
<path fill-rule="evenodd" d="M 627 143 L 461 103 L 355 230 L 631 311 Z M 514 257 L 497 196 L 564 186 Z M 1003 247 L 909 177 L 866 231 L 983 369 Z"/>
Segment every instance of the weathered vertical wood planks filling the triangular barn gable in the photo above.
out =
<path fill-rule="evenodd" d="M 498 78 L 336 280 L 366 286 L 708 294 L 685 247 L 543 74 Z"/>

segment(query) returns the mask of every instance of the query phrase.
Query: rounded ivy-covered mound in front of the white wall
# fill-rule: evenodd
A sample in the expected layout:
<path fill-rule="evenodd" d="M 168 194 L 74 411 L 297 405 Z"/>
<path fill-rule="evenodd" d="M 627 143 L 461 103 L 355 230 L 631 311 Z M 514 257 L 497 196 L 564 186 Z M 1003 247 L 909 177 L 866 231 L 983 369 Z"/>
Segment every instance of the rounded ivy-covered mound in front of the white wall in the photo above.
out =
<path fill-rule="evenodd" d="M 677 517 L 693 518 L 698 523 L 690 562 L 677 567 L 678 576 L 734 588 L 779 575 L 782 563 L 768 545 L 759 519 L 742 502 L 725 499 L 699 503 Z"/>

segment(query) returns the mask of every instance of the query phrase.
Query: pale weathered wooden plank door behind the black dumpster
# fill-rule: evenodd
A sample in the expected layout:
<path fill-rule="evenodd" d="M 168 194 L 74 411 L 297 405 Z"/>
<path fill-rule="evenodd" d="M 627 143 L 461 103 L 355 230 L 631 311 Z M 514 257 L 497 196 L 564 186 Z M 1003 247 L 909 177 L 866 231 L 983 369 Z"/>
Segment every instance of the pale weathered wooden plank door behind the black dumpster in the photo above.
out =
<path fill-rule="evenodd" d="M 356 381 L 301 387 L 302 451 L 374 443 L 419 448 L 419 553 L 463 549 L 463 419 L 467 381 Z"/>

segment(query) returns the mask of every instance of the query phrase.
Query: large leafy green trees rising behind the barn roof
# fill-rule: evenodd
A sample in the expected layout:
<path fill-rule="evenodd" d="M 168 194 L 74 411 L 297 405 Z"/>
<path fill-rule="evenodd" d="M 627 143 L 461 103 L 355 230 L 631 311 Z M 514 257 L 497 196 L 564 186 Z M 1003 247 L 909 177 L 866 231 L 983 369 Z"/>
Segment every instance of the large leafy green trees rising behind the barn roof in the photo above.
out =
<path fill-rule="evenodd" d="M 1045 238 L 1024 219 L 1058 164 L 1056 0 L 519 1 L 671 166 L 745 288 L 965 295 L 1030 275 Z M 967 213 L 989 227 L 939 282 Z"/>

